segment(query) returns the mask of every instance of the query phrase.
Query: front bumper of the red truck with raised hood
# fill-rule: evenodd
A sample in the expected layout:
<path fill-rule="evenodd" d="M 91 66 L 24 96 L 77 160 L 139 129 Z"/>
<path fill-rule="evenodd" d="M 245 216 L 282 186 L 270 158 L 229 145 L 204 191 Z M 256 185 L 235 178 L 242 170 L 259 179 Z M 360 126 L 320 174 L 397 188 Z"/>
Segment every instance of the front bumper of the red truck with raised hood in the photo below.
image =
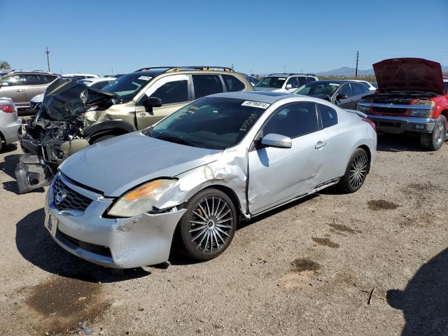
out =
<path fill-rule="evenodd" d="M 436 119 L 400 116 L 379 116 L 367 114 L 367 118 L 377 125 L 377 130 L 386 133 L 400 134 L 404 132 L 433 132 Z"/>

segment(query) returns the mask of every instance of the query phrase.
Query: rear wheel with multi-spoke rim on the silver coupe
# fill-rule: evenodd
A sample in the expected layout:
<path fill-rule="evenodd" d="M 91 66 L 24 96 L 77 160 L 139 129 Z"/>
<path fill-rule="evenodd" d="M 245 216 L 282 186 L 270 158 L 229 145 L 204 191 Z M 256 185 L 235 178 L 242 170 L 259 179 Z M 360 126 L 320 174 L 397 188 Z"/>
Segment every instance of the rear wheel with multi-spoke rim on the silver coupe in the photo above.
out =
<path fill-rule="evenodd" d="M 337 183 L 337 187 L 344 193 L 354 193 L 363 186 L 369 169 L 369 157 L 363 148 L 356 148 L 349 159 L 345 174 Z"/>

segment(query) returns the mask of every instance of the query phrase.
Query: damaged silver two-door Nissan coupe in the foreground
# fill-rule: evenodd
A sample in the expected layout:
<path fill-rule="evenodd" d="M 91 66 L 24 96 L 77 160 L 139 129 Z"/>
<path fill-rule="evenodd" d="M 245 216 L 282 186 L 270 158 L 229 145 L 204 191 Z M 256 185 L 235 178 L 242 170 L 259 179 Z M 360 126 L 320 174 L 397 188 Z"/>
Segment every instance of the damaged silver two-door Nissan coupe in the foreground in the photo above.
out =
<path fill-rule="evenodd" d="M 65 160 L 45 228 L 80 258 L 115 268 L 228 248 L 240 221 L 326 188 L 358 190 L 372 167 L 370 120 L 312 97 L 228 92 Z"/>

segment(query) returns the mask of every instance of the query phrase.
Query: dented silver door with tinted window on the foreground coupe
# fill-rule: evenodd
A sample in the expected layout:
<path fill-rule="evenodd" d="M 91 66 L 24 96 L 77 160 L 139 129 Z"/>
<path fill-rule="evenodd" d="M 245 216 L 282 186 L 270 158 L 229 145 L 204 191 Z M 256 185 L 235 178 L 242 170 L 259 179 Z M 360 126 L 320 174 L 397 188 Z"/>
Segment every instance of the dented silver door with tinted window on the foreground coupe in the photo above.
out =
<path fill-rule="evenodd" d="M 313 190 L 323 167 L 323 132 L 319 130 L 316 104 L 295 102 L 269 117 L 248 153 L 248 204 L 258 214 Z M 267 134 L 290 137 L 291 148 L 260 145 Z"/>

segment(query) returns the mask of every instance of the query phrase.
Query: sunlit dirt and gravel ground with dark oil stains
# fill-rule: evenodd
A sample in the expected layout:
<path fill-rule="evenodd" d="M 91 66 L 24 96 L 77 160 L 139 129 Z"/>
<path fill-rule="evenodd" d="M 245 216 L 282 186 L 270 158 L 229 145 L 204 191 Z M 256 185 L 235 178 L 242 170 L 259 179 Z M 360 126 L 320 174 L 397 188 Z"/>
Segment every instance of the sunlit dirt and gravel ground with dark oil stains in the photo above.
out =
<path fill-rule="evenodd" d="M 215 260 L 122 276 L 52 241 L 46 190 L 17 195 L 20 153 L 0 155 L 0 335 L 448 335 L 448 144 L 382 136 L 358 193 L 254 218 Z"/>

